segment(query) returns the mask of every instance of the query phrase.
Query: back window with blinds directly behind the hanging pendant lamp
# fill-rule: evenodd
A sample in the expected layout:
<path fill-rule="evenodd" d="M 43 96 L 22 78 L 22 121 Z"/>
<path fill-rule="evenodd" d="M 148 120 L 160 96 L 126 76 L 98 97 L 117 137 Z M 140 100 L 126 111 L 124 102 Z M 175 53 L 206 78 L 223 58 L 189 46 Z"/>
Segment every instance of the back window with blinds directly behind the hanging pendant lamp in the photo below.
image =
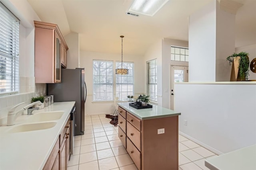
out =
<path fill-rule="evenodd" d="M 121 62 L 116 62 L 116 68 L 121 68 Z M 123 62 L 123 68 L 129 70 L 129 74 L 116 74 L 116 97 L 127 100 L 127 96 L 134 95 L 134 63 Z"/>

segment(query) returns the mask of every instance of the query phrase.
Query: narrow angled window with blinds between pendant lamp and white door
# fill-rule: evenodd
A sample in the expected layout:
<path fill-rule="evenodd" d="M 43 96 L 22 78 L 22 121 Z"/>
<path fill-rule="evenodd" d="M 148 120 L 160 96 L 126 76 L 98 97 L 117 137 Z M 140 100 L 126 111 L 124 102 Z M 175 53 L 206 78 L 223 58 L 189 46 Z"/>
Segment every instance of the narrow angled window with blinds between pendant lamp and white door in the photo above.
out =
<path fill-rule="evenodd" d="M 157 64 L 156 59 L 147 62 L 147 95 L 151 101 L 157 102 Z"/>

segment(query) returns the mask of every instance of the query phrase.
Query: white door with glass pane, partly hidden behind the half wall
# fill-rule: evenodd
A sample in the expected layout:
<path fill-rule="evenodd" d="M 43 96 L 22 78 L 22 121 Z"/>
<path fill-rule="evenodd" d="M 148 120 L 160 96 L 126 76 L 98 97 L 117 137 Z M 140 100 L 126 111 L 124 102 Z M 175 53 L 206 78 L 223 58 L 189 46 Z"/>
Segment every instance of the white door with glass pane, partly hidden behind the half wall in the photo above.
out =
<path fill-rule="evenodd" d="M 170 109 L 174 110 L 174 83 L 188 82 L 188 66 L 171 66 L 170 80 Z"/>

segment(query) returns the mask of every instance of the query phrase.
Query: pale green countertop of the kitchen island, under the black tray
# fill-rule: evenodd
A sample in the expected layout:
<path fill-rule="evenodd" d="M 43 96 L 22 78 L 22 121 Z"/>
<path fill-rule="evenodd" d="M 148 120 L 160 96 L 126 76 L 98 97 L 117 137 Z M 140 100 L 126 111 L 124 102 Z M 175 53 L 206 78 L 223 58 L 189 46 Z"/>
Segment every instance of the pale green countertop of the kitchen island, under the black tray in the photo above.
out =
<path fill-rule="evenodd" d="M 150 105 L 152 105 L 153 107 L 148 109 L 135 109 L 134 107 L 129 106 L 129 102 L 117 103 L 117 104 L 118 106 L 124 108 L 129 113 L 133 114 L 134 116 L 138 117 L 141 120 L 180 115 L 179 112 L 166 109 L 164 107 L 157 106 L 151 103 Z"/>

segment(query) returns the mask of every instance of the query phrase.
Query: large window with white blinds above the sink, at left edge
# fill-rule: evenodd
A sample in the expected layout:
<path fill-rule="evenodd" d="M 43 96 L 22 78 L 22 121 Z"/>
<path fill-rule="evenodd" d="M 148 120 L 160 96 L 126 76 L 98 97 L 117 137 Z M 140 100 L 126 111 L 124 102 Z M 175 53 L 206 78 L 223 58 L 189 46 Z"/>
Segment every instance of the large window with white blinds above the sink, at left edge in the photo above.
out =
<path fill-rule="evenodd" d="M 19 91 L 19 24 L 0 3 L 0 94 Z"/>

